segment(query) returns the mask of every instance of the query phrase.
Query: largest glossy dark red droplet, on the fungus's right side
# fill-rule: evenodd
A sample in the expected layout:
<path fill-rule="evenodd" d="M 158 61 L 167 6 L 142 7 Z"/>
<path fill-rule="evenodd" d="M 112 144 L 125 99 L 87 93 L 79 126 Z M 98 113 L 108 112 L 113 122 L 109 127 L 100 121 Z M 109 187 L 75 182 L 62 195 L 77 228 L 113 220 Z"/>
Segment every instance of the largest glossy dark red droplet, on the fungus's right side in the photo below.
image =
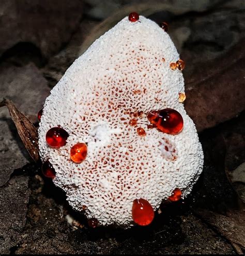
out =
<path fill-rule="evenodd" d="M 183 118 L 174 109 L 151 111 L 148 119 L 158 130 L 168 134 L 178 134 L 183 129 Z"/>

